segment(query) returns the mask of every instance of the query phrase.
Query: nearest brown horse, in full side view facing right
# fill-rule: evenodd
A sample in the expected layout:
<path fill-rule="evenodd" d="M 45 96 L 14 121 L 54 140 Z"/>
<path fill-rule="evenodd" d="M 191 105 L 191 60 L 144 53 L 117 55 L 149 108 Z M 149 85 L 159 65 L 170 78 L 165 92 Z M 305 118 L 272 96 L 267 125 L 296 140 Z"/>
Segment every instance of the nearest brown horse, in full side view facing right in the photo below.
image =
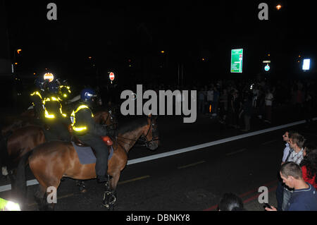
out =
<path fill-rule="evenodd" d="M 159 147 L 159 132 L 156 118 L 142 118 L 132 121 L 118 130 L 118 137 L 113 142 L 113 157 L 108 161 L 108 174 L 112 176 L 107 183 L 108 190 L 104 193 L 104 206 L 113 207 L 116 202 L 116 187 L 121 171 L 128 162 L 128 152 L 135 142 L 143 136 L 147 147 L 156 150 Z M 77 152 L 70 142 L 46 142 L 35 147 L 35 150 L 25 154 L 18 169 L 18 183 L 21 193 L 25 193 L 25 164 L 29 162 L 30 169 L 39 182 L 35 198 L 40 209 L 54 209 L 54 203 L 48 204 L 44 200 L 47 188 L 58 188 L 61 178 L 68 177 L 75 180 L 96 178 L 96 164 L 80 164 Z"/>

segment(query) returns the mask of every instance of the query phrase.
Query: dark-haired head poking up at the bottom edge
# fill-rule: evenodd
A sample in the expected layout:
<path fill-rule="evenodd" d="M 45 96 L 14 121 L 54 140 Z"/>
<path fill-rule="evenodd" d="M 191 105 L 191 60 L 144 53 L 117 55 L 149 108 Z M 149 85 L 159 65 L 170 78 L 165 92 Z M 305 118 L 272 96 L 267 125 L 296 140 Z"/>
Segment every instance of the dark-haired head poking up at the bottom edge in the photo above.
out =
<path fill-rule="evenodd" d="M 225 193 L 218 204 L 219 211 L 244 211 L 242 199 L 235 194 Z"/>

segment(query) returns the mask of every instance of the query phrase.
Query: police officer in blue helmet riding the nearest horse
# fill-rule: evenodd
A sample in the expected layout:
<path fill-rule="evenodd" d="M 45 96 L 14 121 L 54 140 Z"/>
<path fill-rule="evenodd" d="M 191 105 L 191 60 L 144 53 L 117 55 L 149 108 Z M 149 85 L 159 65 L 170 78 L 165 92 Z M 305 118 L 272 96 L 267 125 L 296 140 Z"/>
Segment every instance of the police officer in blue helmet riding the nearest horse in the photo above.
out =
<path fill-rule="evenodd" d="M 77 104 L 70 116 L 72 121 L 73 135 L 89 145 L 96 152 L 96 175 L 98 183 L 109 181 L 108 171 L 108 147 L 101 139 L 107 135 L 113 135 L 110 130 L 94 122 L 92 107 L 95 104 L 96 93 L 92 89 L 84 89 L 80 93 L 80 103 Z"/>

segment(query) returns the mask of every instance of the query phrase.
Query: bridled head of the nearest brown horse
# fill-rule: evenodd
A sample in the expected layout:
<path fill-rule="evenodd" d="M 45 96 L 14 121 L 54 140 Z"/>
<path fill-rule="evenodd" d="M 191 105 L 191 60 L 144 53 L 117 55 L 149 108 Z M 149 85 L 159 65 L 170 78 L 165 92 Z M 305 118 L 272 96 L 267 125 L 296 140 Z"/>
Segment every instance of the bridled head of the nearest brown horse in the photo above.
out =
<path fill-rule="evenodd" d="M 142 133 L 143 138 L 145 139 L 145 145 L 149 150 L 156 150 L 159 147 L 159 129 L 156 122 L 157 117 L 149 116 L 147 118 L 147 126 L 144 128 Z"/>

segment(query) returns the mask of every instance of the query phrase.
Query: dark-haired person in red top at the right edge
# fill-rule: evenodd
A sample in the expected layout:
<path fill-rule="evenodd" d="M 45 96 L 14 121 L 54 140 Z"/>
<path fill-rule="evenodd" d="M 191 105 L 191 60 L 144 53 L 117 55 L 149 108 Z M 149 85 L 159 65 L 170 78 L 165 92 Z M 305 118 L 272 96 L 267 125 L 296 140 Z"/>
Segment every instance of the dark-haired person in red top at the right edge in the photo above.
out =
<path fill-rule="evenodd" d="M 310 183 L 314 188 L 317 188 L 317 147 L 316 145 L 307 144 L 304 147 L 304 159 L 300 166 L 304 181 Z"/>

